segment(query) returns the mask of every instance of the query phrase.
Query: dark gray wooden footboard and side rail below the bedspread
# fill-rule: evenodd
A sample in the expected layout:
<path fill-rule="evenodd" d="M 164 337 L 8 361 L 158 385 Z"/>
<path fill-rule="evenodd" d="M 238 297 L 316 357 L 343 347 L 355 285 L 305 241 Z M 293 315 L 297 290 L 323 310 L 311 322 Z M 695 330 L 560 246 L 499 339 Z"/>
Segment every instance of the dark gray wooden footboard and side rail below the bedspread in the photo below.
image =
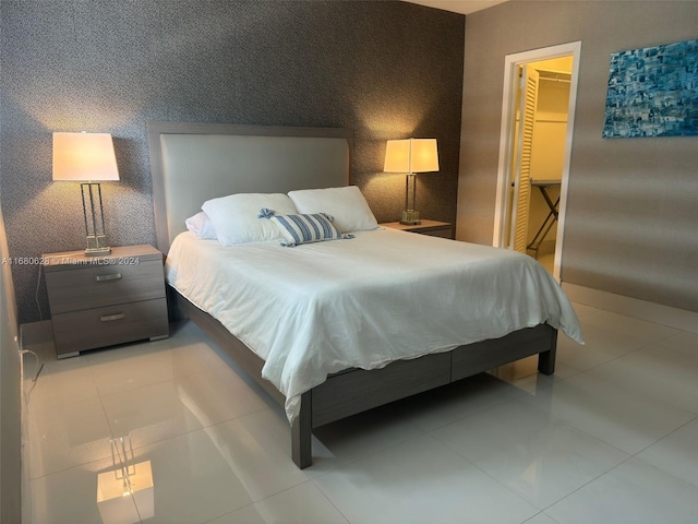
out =
<path fill-rule="evenodd" d="M 172 290 L 177 308 L 208 334 L 272 397 L 284 406 L 286 397 L 262 378 L 264 361 L 220 322 Z M 557 330 L 547 324 L 516 331 L 502 338 L 460 346 L 447 353 L 398 360 L 374 370 L 350 369 L 332 374 L 303 393 L 301 410 L 291 426 L 291 457 L 303 469 L 313 463 L 312 430 L 390 402 L 539 355 L 538 370 L 555 370 Z"/>

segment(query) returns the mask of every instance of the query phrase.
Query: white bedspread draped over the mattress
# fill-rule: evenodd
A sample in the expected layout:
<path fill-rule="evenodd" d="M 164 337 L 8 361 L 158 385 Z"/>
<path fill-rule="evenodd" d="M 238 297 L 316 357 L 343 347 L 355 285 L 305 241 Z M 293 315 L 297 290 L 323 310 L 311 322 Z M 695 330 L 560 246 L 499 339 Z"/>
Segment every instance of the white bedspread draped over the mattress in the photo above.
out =
<path fill-rule="evenodd" d="M 167 281 L 265 360 L 287 397 L 327 374 L 381 368 L 547 322 L 582 343 L 561 287 L 509 250 L 377 229 L 354 239 L 282 248 L 221 246 L 183 233 Z"/>

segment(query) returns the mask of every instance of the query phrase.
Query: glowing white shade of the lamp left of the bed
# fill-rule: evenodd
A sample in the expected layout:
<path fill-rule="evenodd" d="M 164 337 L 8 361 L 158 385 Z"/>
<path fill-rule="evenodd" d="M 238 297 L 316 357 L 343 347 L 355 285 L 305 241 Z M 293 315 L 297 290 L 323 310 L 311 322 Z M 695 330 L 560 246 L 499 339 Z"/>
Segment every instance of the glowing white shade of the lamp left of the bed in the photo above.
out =
<path fill-rule="evenodd" d="M 53 133 L 53 180 L 119 180 L 109 133 Z"/>

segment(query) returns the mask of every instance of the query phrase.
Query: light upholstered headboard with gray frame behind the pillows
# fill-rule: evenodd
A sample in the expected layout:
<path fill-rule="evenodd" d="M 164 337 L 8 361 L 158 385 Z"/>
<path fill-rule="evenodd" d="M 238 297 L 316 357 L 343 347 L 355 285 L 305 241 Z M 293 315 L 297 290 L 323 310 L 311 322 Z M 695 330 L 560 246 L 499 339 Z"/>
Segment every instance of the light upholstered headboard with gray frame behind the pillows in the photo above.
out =
<path fill-rule="evenodd" d="M 209 199 L 347 186 L 352 132 L 225 123 L 148 122 L 157 247 Z"/>

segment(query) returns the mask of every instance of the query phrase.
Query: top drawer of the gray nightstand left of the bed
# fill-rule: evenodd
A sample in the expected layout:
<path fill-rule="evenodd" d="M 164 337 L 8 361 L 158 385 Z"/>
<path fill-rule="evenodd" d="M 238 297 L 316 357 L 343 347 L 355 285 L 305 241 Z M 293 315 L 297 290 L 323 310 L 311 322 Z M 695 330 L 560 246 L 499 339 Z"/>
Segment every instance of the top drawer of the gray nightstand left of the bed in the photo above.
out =
<path fill-rule="evenodd" d="M 163 262 L 46 272 L 51 314 L 165 297 Z"/>

